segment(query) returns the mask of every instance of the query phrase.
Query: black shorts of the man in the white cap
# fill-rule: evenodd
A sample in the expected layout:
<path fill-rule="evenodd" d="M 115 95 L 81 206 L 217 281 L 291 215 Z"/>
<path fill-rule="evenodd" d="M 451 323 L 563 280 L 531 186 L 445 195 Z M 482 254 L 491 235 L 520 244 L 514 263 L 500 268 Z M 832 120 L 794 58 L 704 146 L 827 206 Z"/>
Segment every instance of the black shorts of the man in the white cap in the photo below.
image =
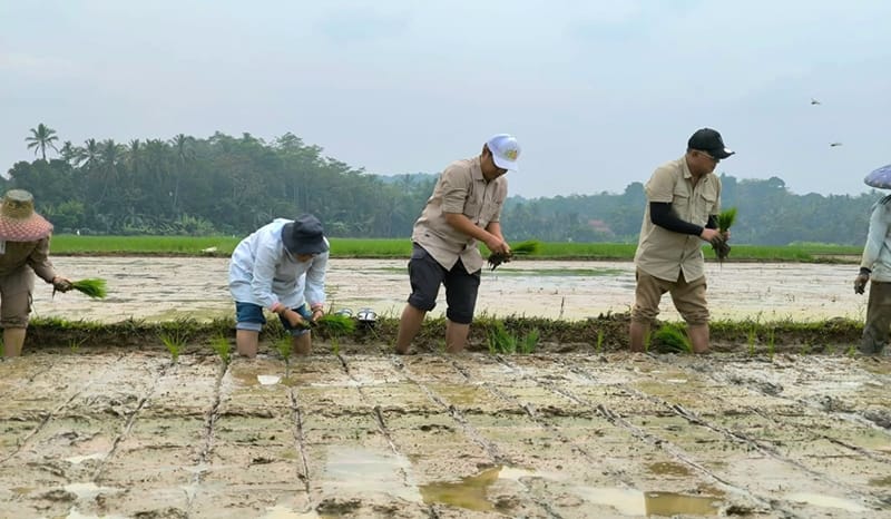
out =
<path fill-rule="evenodd" d="M 480 272 L 468 273 L 461 260 L 458 260 L 451 271 L 447 271 L 415 243 L 409 261 L 409 281 L 411 282 L 409 304 L 418 310 L 430 312 L 437 306 L 439 286 L 446 285 L 446 304 L 448 305 L 446 316 L 453 323 L 470 324 L 473 320 L 473 309 L 477 306 Z"/>

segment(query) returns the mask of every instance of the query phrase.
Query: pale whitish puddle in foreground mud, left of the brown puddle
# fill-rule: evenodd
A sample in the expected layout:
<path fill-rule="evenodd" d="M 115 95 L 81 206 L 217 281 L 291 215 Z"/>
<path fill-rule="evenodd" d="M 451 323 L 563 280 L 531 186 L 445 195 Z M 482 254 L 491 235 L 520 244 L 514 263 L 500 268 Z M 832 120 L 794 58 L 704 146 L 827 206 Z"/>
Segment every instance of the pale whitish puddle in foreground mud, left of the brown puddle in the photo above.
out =
<path fill-rule="evenodd" d="M 324 469 L 325 491 L 379 492 L 421 502 L 418 488 L 408 481 L 411 462 L 404 456 L 343 445 L 330 445 Z"/>

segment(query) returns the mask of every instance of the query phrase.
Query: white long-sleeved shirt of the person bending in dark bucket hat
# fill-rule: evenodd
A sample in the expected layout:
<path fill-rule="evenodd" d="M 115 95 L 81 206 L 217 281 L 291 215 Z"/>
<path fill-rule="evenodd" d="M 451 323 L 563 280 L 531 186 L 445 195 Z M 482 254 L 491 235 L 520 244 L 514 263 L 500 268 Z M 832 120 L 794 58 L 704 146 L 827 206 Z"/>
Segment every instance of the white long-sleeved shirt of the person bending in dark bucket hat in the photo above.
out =
<path fill-rule="evenodd" d="M 276 218 L 235 247 L 229 262 L 229 292 L 235 301 L 267 309 L 276 302 L 290 309 L 325 303 L 329 251 L 297 261 L 282 242 L 282 227 L 291 222 Z"/>

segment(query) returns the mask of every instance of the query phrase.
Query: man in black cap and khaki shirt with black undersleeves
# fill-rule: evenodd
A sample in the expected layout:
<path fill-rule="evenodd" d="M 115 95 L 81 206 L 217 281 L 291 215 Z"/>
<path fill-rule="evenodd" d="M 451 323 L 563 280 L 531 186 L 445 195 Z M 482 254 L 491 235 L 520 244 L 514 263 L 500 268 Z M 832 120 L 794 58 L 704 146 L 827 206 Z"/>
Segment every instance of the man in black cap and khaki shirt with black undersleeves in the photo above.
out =
<path fill-rule="evenodd" d="M 629 327 L 631 351 L 644 351 L 666 292 L 687 323 L 693 351 L 708 351 L 702 242 L 730 239 L 728 231 L 723 235 L 717 231 L 721 179 L 714 170 L 733 154 L 719 133 L 702 128 L 691 136 L 683 157 L 656 168 L 647 182 L 647 205 L 634 256 L 637 284 Z"/>

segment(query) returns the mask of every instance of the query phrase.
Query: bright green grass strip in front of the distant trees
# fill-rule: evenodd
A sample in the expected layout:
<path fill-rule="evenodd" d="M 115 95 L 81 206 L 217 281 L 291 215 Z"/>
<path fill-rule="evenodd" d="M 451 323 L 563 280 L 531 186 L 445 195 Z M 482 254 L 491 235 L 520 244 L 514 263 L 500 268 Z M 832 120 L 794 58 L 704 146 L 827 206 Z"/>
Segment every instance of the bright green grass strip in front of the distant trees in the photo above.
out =
<path fill-rule="evenodd" d="M 52 254 L 157 254 L 184 256 L 228 256 L 242 236 L 52 236 Z M 731 262 L 844 262 L 858 263 L 861 247 L 799 243 L 786 246 L 733 245 Z M 708 247 L 708 245 L 704 245 Z M 637 244 L 628 243 L 542 243 L 539 251 L 515 258 L 523 260 L 616 260 L 634 258 Z M 213 249 L 209 252 L 204 252 Z M 489 255 L 481 246 L 483 257 Z M 411 239 L 331 238 L 333 257 L 408 258 Z M 711 254 L 706 257 L 711 258 Z M 846 256 L 843 260 L 836 256 Z"/>

